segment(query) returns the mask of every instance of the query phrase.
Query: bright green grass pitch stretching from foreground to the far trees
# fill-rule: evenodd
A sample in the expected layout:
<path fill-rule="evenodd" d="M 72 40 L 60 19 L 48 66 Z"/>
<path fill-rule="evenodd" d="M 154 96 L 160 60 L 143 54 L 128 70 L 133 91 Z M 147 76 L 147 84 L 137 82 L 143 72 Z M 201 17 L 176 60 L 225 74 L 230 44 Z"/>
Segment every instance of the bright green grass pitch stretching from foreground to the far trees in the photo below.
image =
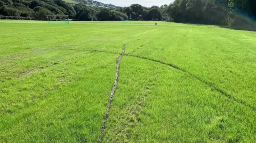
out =
<path fill-rule="evenodd" d="M 0 142 L 254 142 L 256 33 L 0 21 Z"/>

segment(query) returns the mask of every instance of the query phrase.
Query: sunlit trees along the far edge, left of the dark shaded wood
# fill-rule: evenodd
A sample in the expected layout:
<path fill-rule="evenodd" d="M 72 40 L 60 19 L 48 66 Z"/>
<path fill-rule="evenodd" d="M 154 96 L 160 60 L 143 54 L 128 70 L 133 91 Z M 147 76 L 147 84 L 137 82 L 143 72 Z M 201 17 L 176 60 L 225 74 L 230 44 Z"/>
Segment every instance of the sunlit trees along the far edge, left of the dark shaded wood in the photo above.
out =
<path fill-rule="evenodd" d="M 129 7 L 95 9 L 85 4 L 69 4 L 62 0 L 2 0 L 0 1 L 0 19 L 51 20 L 66 18 L 73 20 L 161 20 L 167 5 L 161 7 L 143 7 L 132 4 Z"/>

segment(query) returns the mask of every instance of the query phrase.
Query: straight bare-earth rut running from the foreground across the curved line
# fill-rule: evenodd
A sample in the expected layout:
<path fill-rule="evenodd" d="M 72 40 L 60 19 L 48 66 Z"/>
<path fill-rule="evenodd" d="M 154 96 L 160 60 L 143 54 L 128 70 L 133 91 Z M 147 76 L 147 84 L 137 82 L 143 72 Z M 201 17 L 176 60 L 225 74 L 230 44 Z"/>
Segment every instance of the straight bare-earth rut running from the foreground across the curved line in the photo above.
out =
<path fill-rule="evenodd" d="M 99 138 L 99 142 L 102 142 L 102 138 L 103 138 L 103 135 L 104 135 L 104 132 L 105 132 L 105 129 L 106 129 L 106 124 L 107 124 L 107 120 L 108 120 L 108 115 L 109 115 L 109 111 L 110 111 L 110 107 L 111 107 L 111 102 L 114 98 L 114 95 L 115 95 L 115 91 L 116 91 L 116 88 L 117 88 L 117 84 L 118 84 L 118 78 L 119 78 L 119 68 L 120 68 L 120 62 L 122 60 L 122 57 L 124 55 L 124 52 L 125 52 L 125 45 L 123 47 L 123 52 L 122 54 L 119 56 L 118 60 L 117 60 L 117 67 L 116 67 L 116 79 L 115 79 L 115 82 L 114 82 L 114 86 L 112 88 L 112 91 L 110 93 L 110 97 L 109 97 L 109 100 L 108 100 L 108 106 L 107 106 L 107 111 L 105 113 L 105 116 L 104 116 L 104 119 L 103 119 L 103 124 L 102 124 L 102 127 L 101 127 L 101 131 L 100 131 L 100 138 Z"/>

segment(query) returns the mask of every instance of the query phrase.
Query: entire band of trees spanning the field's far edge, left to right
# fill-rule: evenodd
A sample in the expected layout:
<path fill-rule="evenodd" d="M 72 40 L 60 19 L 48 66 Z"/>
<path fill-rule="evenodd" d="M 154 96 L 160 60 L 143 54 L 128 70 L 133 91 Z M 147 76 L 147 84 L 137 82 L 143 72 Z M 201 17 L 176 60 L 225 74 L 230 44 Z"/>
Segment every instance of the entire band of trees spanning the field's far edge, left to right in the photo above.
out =
<path fill-rule="evenodd" d="M 161 7 L 145 7 L 140 4 L 113 7 L 115 9 L 98 9 L 83 3 L 69 4 L 62 0 L 1 0 L 0 19 L 46 20 L 46 15 L 55 15 L 50 17 L 51 20 L 59 20 L 66 18 L 61 15 L 68 15 L 69 19 L 86 21 L 165 20 L 170 15 L 168 21 L 256 28 L 252 24 L 256 17 L 256 0 L 175 0 L 170 5 Z"/>

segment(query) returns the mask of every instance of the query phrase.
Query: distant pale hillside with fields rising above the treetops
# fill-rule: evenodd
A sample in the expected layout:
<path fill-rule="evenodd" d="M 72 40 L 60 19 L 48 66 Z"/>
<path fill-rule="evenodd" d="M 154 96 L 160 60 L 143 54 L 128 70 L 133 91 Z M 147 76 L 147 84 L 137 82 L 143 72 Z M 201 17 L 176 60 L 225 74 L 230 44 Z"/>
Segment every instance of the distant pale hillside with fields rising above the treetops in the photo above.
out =
<path fill-rule="evenodd" d="M 98 2 L 98 1 L 92 1 L 92 0 L 64 0 L 64 1 L 69 3 L 69 4 L 83 3 L 83 4 L 86 4 L 87 6 L 99 7 L 99 9 L 100 8 L 107 8 L 107 9 L 115 10 L 115 9 L 120 8 L 120 6 L 115 6 L 113 4 L 105 4 L 105 3 L 101 3 L 101 2 Z"/>

